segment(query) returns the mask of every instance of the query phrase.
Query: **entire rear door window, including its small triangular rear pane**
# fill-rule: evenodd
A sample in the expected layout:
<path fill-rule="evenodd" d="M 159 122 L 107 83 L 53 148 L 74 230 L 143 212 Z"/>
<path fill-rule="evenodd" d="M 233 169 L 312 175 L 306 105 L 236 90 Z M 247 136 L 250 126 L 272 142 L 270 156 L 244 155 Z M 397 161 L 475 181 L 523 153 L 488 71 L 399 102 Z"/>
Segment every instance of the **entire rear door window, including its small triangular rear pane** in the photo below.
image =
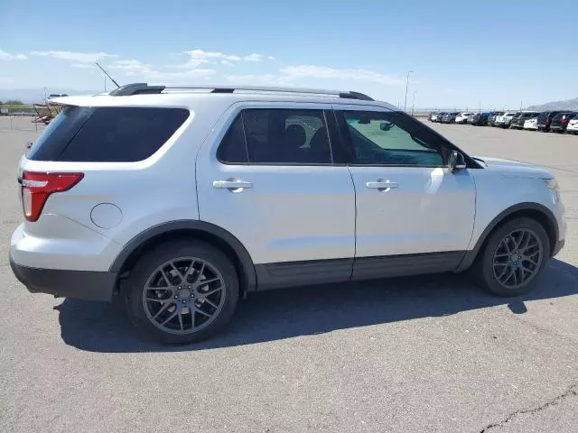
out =
<path fill-rule="evenodd" d="M 331 164 L 325 116 L 322 110 L 243 110 L 217 156 L 228 163 Z"/>

